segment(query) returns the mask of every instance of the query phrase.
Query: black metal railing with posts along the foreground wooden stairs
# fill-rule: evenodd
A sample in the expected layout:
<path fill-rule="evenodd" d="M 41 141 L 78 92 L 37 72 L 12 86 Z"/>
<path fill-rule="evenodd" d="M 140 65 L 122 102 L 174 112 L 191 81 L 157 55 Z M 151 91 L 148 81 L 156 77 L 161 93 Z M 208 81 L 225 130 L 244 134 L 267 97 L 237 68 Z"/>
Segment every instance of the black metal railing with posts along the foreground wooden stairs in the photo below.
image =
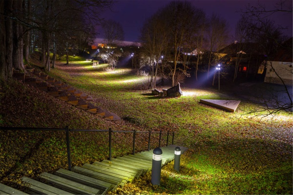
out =
<path fill-rule="evenodd" d="M 159 144 L 158 147 L 161 147 L 161 137 L 162 133 L 167 133 L 167 143 L 169 142 L 169 134 L 172 134 L 172 145 L 174 144 L 174 132 L 151 132 L 151 131 L 112 131 L 111 128 L 108 130 L 86 130 L 86 129 L 69 129 L 68 126 L 65 128 L 29 128 L 29 127 L 0 127 L 0 130 L 5 131 L 65 131 L 66 134 L 66 148 L 67 148 L 67 159 L 68 159 L 68 170 L 71 170 L 71 155 L 70 155 L 70 139 L 69 132 L 108 132 L 109 133 L 109 160 L 112 158 L 112 134 L 113 133 L 132 133 L 133 134 L 133 143 L 132 143 L 132 154 L 135 154 L 135 138 L 136 134 L 139 133 L 147 133 L 148 134 L 148 151 L 150 150 L 150 138 L 151 134 L 158 133 L 159 134 Z"/>

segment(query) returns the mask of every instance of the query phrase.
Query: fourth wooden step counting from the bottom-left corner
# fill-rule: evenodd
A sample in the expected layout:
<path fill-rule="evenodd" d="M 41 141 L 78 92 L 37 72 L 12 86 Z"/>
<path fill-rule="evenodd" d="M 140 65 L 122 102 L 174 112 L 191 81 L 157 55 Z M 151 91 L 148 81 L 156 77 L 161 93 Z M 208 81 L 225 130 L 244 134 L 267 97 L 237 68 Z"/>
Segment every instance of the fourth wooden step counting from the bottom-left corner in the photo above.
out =
<path fill-rule="evenodd" d="M 111 188 L 112 184 L 99 180 L 99 179 L 95 179 L 93 177 L 89 177 L 89 176 L 84 176 L 82 174 L 78 174 L 72 171 L 68 171 L 65 169 L 59 169 L 58 171 L 56 171 L 55 173 L 57 176 L 61 176 L 63 178 L 78 182 L 78 183 L 82 183 L 86 186 L 90 186 L 96 189 L 100 190 L 100 194 L 104 195 L 108 192 L 109 188 Z"/>

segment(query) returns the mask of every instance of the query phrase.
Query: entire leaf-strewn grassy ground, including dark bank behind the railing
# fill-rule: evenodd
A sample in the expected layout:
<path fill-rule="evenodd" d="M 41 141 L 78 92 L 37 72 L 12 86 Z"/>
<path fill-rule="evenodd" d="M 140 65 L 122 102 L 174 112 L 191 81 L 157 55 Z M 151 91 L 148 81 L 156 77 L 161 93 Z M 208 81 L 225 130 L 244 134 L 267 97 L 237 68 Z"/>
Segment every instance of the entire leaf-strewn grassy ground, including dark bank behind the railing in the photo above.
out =
<path fill-rule="evenodd" d="M 175 131 L 175 143 L 190 148 L 182 156 L 180 174 L 172 170 L 172 163 L 163 168 L 160 187 L 151 186 L 150 175 L 146 175 L 117 193 L 292 194 L 292 117 L 260 122 L 240 118 L 241 108 L 248 105 L 245 102 L 234 114 L 199 104 L 200 98 L 228 98 L 209 89 L 182 87 L 185 96 L 181 98 L 156 98 L 149 96 L 149 90 L 137 90 L 143 88 L 145 78 L 132 76 L 128 69 L 104 72 L 103 67 L 94 69 L 90 62 L 72 61 L 50 74 L 91 94 L 95 104 L 126 120 L 109 122 L 93 117 L 14 82 L 0 88 L 0 125 Z M 4 167 L 0 182 L 14 186 L 23 175 L 36 178 L 43 171 L 66 168 L 62 133 L 0 134 L 0 165 Z M 130 137 L 115 135 L 114 156 L 131 151 Z M 163 138 L 166 141 L 166 136 Z M 73 164 L 106 158 L 106 140 L 103 133 L 72 133 Z M 138 137 L 138 151 L 146 149 L 145 140 Z M 153 147 L 156 144 L 153 142 Z"/>

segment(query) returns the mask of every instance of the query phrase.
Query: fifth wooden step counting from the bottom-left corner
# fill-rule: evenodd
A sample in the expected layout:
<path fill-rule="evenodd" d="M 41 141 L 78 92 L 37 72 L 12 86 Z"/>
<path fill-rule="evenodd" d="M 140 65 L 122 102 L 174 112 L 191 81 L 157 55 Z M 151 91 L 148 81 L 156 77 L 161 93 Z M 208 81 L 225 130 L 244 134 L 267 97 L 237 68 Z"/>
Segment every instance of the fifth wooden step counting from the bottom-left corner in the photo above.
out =
<path fill-rule="evenodd" d="M 112 189 L 116 189 L 117 186 L 121 185 L 122 179 L 117 178 L 117 177 L 112 177 L 112 176 L 107 176 L 105 174 L 97 173 L 95 171 L 85 169 L 82 167 L 74 166 L 72 169 L 75 173 L 79 173 L 85 176 L 90 176 L 108 183 L 112 184 Z"/>

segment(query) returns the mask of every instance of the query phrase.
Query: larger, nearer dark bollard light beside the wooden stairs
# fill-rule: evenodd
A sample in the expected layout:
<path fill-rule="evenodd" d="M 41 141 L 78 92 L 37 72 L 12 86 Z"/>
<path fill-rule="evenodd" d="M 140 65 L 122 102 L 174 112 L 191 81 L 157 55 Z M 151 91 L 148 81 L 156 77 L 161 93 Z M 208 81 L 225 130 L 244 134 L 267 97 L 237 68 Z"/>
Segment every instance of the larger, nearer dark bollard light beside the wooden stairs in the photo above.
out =
<path fill-rule="evenodd" d="M 161 168 L 162 168 L 162 149 L 155 148 L 153 150 L 153 160 L 151 167 L 151 183 L 153 185 L 160 185 Z"/>

